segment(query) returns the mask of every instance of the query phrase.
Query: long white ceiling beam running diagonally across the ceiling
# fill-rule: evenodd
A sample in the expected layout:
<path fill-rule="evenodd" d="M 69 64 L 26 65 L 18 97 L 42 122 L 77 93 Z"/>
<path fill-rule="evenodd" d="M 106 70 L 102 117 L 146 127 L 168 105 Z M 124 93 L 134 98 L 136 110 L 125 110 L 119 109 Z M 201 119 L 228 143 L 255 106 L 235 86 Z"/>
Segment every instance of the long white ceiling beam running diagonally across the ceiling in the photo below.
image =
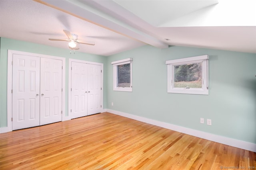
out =
<path fill-rule="evenodd" d="M 168 48 L 168 45 L 155 37 L 140 31 L 131 25 L 124 23 L 113 16 L 110 16 L 100 10 L 97 10 L 91 4 L 88 5 L 90 1 L 78 1 L 78 0 L 34 0 L 36 2 L 40 2 L 52 8 L 56 8 L 80 18 L 82 20 L 88 21 L 90 23 L 94 23 L 100 27 L 104 27 L 105 29 L 114 31 L 126 37 L 130 37 L 137 41 L 144 42 L 146 44 L 152 45 L 158 48 Z M 87 4 L 86 4 L 87 2 Z"/>

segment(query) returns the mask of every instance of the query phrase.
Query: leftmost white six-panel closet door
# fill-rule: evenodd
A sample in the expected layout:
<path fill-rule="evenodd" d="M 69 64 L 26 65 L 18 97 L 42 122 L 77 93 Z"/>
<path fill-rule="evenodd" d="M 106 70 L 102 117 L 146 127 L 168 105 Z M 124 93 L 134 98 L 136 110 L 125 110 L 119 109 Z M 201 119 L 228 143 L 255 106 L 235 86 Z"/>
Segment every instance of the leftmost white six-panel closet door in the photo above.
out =
<path fill-rule="evenodd" d="M 12 130 L 40 125 L 40 57 L 13 55 Z"/>

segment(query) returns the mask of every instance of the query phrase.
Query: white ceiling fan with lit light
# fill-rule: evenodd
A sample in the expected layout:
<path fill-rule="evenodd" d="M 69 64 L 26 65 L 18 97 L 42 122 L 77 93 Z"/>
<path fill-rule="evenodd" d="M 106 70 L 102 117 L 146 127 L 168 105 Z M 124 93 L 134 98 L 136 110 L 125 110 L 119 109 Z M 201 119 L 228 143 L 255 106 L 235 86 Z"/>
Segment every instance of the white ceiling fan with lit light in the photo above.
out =
<path fill-rule="evenodd" d="M 72 50 L 77 50 L 79 49 L 78 47 L 78 43 L 80 44 L 87 44 L 87 45 L 95 45 L 94 42 L 80 42 L 77 40 L 77 35 L 74 33 L 70 33 L 70 31 L 63 29 L 64 33 L 68 36 L 68 39 L 53 39 L 53 38 L 49 38 L 49 40 L 52 41 L 70 41 L 68 43 L 68 47 Z"/>

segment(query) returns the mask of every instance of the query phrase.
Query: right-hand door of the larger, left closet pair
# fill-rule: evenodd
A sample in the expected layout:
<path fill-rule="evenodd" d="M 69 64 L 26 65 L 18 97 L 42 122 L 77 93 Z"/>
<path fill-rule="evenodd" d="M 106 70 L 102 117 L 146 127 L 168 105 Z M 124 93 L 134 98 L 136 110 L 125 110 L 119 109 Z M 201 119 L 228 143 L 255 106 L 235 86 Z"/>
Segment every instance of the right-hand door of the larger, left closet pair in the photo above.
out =
<path fill-rule="evenodd" d="M 62 121 L 62 61 L 41 58 L 40 125 Z"/>

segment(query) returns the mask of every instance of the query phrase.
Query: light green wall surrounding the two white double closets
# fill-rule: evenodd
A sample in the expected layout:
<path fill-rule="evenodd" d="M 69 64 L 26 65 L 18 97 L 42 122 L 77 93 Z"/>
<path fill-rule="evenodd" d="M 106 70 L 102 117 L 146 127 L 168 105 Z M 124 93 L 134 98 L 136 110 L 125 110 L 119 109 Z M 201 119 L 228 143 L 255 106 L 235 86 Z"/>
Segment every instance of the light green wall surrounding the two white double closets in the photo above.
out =
<path fill-rule="evenodd" d="M 66 58 L 66 114 L 68 113 L 68 59 L 78 59 L 84 61 L 92 61 L 104 64 L 104 81 L 106 81 L 106 61 L 107 58 L 100 55 L 92 55 L 80 53 L 76 51 L 75 54 L 70 54 L 69 49 L 60 49 L 46 45 L 39 45 L 25 41 L 18 41 L 14 39 L 0 38 L 0 127 L 7 126 L 7 55 L 8 49 L 16 51 L 24 51 L 30 53 L 52 55 Z M 104 86 L 106 89 L 106 86 Z M 106 108 L 106 90 L 104 90 L 104 105 Z"/>

